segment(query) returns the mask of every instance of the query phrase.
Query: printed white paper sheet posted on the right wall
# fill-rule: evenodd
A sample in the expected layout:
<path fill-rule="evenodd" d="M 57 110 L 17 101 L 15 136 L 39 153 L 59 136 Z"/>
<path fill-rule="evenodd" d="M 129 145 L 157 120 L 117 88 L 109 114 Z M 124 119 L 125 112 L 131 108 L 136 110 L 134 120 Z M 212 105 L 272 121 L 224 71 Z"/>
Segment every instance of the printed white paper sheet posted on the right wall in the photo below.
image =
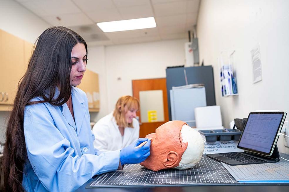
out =
<path fill-rule="evenodd" d="M 253 83 L 257 83 L 262 80 L 262 64 L 260 56 L 259 44 L 251 50 L 252 66 L 253 66 Z"/>

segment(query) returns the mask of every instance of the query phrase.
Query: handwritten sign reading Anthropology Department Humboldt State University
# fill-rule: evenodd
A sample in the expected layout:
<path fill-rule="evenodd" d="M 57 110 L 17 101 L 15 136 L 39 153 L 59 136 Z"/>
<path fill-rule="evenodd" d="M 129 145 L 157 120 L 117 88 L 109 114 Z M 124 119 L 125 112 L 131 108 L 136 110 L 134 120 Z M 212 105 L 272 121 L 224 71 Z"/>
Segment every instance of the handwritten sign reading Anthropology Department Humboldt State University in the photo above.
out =
<path fill-rule="evenodd" d="M 226 153 L 244 151 L 237 148 L 238 141 L 215 141 L 205 142 L 205 150 L 203 154 Z"/>

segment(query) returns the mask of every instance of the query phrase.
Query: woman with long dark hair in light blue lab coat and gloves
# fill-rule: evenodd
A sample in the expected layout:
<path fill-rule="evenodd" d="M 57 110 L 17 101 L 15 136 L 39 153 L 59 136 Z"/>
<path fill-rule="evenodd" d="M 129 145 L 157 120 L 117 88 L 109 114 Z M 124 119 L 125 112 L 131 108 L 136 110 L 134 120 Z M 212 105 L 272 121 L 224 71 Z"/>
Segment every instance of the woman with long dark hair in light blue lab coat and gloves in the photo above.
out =
<path fill-rule="evenodd" d="M 5 191 L 73 191 L 95 174 L 140 163 L 150 140 L 109 152 L 93 148 L 88 101 L 76 88 L 86 70 L 87 45 L 65 27 L 37 40 L 19 82 L 4 147 Z"/>

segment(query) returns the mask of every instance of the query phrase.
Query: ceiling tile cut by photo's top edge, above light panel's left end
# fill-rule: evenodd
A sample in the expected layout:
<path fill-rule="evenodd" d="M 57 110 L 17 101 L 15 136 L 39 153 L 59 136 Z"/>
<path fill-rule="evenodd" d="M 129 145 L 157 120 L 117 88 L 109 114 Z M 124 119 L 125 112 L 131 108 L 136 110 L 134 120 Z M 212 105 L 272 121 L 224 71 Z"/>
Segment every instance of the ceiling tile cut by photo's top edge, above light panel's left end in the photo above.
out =
<path fill-rule="evenodd" d="M 99 11 L 115 8 L 112 0 L 72 0 L 82 11 Z"/>

